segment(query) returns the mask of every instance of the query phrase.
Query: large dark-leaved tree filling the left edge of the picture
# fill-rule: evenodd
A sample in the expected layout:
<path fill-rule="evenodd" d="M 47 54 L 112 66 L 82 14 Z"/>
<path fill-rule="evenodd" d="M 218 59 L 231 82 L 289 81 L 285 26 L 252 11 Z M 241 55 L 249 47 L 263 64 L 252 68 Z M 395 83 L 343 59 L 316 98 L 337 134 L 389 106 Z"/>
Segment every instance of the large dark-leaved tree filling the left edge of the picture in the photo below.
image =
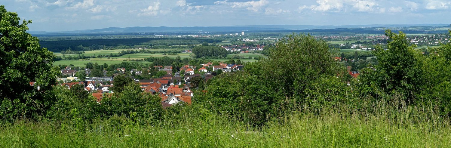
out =
<path fill-rule="evenodd" d="M 22 23 L 20 23 L 22 22 Z M 0 6 L 0 118 L 35 117 L 50 106 L 46 92 L 56 83 L 55 56 L 27 33 L 32 23 Z M 34 82 L 34 86 L 30 85 Z M 38 89 L 39 88 L 39 89 Z"/>

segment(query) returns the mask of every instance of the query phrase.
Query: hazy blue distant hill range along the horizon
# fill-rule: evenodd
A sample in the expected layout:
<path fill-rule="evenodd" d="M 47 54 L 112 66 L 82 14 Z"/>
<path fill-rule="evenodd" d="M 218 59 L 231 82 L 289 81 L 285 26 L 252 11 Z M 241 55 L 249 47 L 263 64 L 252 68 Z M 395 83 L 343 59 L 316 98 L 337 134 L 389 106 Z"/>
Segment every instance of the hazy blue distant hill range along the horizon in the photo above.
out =
<path fill-rule="evenodd" d="M 92 30 L 76 30 L 65 32 L 28 31 L 31 34 L 110 34 L 110 33 L 161 33 L 161 32 L 360 32 L 379 33 L 384 29 L 400 30 L 418 33 L 443 32 L 450 29 L 450 24 L 374 24 L 374 25 L 342 25 L 342 26 L 314 26 L 314 25 L 246 25 L 222 27 L 127 27 L 103 28 Z"/>

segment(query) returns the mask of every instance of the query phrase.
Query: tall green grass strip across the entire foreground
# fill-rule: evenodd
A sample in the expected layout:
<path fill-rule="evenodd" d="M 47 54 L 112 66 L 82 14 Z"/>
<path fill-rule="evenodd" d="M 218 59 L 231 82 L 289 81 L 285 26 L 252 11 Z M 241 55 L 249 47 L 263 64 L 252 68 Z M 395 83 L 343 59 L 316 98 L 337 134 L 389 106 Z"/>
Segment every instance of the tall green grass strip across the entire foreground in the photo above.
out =
<path fill-rule="evenodd" d="M 261 128 L 195 107 L 179 109 L 179 114 L 153 125 L 117 116 L 82 125 L 74 124 L 79 120 L 21 120 L 0 126 L 0 147 L 451 147 L 449 120 L 431 105 L 368 106 L 318 114 L 295 111 L 283 123 Z"/>

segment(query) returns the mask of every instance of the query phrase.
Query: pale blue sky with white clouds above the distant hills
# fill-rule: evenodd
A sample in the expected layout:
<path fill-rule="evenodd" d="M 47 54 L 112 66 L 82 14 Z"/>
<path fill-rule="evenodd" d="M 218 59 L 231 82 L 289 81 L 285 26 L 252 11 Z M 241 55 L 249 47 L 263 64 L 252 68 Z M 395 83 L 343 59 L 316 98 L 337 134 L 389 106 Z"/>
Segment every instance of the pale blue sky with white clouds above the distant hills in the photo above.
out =
<path fill-rule="evenodd" d="M 0 0 L 32 31 L 450 23 L 451 0 Z"/>

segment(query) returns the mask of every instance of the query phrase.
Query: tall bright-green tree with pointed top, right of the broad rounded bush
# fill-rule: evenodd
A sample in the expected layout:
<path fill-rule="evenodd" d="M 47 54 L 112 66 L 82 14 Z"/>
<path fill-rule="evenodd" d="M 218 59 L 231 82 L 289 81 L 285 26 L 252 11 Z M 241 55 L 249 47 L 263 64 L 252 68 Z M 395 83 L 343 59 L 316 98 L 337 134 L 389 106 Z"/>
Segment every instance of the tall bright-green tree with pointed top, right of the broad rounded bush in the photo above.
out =
<path fill-rule="evenodd" d="M 366 92 L 403 92 L 410 101 L 412 94 L 419 90 L 424 82 L 422 74 L 421 55 L 409 46 L 405 33 L 396 34 L 386 30 L 385 35 L 390 37 L 388 49 L 377 47 L 375 54 L 379 62 L 376 71 L 362 70 L 360 82 L 363 94 Z"/>

